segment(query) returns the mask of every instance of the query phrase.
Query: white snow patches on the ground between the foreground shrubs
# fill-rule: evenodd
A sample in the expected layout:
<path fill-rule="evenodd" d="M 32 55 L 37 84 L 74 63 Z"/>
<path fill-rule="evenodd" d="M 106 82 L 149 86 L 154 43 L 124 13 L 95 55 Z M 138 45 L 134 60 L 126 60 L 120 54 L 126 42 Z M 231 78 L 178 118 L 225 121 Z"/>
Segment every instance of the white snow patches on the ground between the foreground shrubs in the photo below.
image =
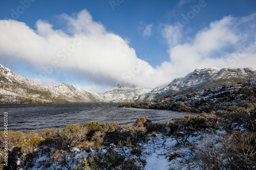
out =
<path fill-rule="evenodd" d="M 200 140 L 204 137 L 211 137 L 211 130 L 205 130 L 205 132 L 196 132 L 194 136 L 188 137 L 189 144 L 185 147 L 177 147 L 177 141 L 173 136 L 166 136 L 162 133 L 158 133 L 156 137 L 149 135 L 146 137 L 146 141 L 140 143 L 142 148 L 141 159 L 146 159 L 145 169 L 148 170 L 161 170 L 161 169 L 188 169 L 188 161 L 193 161 L 195 156 L 195 149 L 191 149 L 191 145 L 194 146 L 200 143 Z M 216 131 L 215 134 L 221 134 L 223 132 Z M 108 151 L 109 147 L 102 147 L 100 149 L 94 148 L 92 153 L 101 152 L 105 153 Z M 131 154 L 131 149 L 127 147 L 119 148 L 116 146 L 115 150 L 120 154 L 125 154 L 127 158 L 136 158 L 135 155 Z M 54 151 L 51 151 L 54 153 Z M 86 151 L 81 150 L 80 148 L 72 148 L 69 151 L 73 155 L 73 158 L 80 160 L 81 154 L 84 154 L 86 157 L 89 155 Z M 48 154 L 48 156 L 47 156 Z M 29 169 L 44 169 L 40 164 L 42 162 L 51 161 L 51 155 L 49 153 L 39 154 L 40 156 L 34 161 L 35 164 Z M 71 158 L 69 158 L 71 159 Z M 53 163 L 51 168 L 60 168 L 60 165 Z M 191 169 L 199 169 L 199 167 L 190 166 Z M 67 169 L 62 167 L 62 169 Z"/>

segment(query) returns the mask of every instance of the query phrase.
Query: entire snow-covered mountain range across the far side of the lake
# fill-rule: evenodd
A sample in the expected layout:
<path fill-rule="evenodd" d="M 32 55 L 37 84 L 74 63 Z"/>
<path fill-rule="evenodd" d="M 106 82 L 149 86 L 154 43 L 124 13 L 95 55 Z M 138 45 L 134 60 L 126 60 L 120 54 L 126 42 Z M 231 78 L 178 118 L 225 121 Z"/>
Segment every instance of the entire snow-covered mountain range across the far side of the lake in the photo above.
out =
<path fill-rule="evenodd" d="M 17 75 L 0 64 L 0 104 L 10 103 L 68 103 L 68 102 L 144 102 L 162 99 L 207 88 L 233 85 L 256 79 L 252 68 L 197 68 L 185 77 L 174 79 L 164 87 L 148 89 L 124 87 L 117 83 L 105 93 L 80 89 L 68 83 L 44 86 Z"/>

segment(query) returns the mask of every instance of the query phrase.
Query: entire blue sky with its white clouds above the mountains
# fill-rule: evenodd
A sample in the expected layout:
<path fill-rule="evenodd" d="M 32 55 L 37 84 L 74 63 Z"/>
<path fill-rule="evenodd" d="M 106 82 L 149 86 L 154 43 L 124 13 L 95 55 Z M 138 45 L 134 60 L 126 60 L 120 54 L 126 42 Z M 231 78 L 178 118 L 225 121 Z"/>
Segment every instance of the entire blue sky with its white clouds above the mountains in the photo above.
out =
<path fill-rule="evenodd" d="M 0 1 L 0 64 L 48 86 L 155 88 L 196 68 L 256 69 L 256 1 Z"/>

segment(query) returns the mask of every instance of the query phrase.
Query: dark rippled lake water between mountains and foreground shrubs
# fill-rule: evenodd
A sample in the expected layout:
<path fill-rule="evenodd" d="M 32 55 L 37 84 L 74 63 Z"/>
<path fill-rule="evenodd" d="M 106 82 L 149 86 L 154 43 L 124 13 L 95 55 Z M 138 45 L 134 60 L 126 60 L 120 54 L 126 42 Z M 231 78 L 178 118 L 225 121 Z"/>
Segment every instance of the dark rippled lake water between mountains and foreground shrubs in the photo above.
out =
<path fill-rule="evenodd" d="M 8 130 L 23 131 L 43 128 L 59 129 L 66 125 L 87 122 L 134 124 L 147 116 L 154 123 L 197 113 L 170 110 L 118 108 L 120 103 L 67 103 L 56 105 L 0 105 L 0 130 L 4 130 L 4 112 L 8 112 Z"/>

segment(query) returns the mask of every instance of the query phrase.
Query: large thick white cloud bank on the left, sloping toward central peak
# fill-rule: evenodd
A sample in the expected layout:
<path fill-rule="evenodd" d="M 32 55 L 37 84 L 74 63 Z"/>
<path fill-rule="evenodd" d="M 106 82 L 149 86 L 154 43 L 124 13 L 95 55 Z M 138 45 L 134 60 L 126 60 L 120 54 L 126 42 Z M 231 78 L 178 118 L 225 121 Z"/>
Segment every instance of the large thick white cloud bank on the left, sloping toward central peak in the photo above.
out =
<path fill-rule="evenodd" d="M 36 22 L 36 30 L 24 22 L 0 20 L 0 57 L 32 63 L 41 71 L 37 79 L 49 79 L 58 68 L 109 84 L 120 82 L 153 88 L 169 81 L 165 79 L 166 72 L 139 59 L 127 39 L 106 31 L 87 10 L 72 16 L 62 14 L 60 18 L 67 22 L 69 32 L 54 30 L 43 20 Z"/>

